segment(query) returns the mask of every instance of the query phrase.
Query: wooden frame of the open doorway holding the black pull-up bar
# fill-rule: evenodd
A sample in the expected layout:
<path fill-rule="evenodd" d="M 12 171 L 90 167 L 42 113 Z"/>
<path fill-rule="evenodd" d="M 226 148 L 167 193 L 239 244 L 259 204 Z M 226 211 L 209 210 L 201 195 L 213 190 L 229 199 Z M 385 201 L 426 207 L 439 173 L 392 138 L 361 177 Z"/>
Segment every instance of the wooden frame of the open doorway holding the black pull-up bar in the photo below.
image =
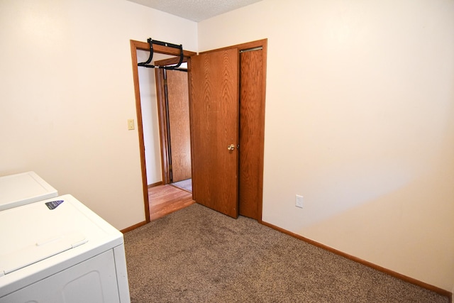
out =
<path fill-rule="evenodd" d="M 143 201 L 145 207 L 145 221 L 150 222 L 150 206 L 148 200 L 148 182 L 147 182 L 147 168 L 145 165 L 145 143 L 143 140 L 143 120 L 142 120 L 142 108 L 140 101 L 140 87 L 139 87 L 139 74 L 138 74 L 138 60 L 137 50 L 150 50 L 150 44 L 147 42 L 130 40 L 131 45 L 131 62 L 133 67 L 133 82 L 134 82 L 134 95 L 135 95 L 135 111 L 137 116 L 137 129 L 139 137 L 139 152 L 140 152 L 140 169 L 142 171 L 142 190 L 143 190 Z M 170 48 L 164 45 L 153 45 L 154 53 L 179 56 L 179 50 L 176 48 Z M 183 50 L 184 60 L 189 61 L 192 55 L 196 53 Z M 162 149 L 162 144 L 161 144 Z"/>

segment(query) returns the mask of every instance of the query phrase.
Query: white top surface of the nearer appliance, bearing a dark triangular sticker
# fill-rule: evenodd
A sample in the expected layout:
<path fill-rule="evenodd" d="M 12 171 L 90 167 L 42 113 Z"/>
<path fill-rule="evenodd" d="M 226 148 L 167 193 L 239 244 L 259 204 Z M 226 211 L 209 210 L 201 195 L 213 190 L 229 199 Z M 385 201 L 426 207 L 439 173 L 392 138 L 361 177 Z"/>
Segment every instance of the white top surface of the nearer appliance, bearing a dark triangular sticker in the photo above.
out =
<path fill-rule="evenodd" d="M 0 297 L 123 245 L 123 234 L 70 194 L 0 211 Z"/>

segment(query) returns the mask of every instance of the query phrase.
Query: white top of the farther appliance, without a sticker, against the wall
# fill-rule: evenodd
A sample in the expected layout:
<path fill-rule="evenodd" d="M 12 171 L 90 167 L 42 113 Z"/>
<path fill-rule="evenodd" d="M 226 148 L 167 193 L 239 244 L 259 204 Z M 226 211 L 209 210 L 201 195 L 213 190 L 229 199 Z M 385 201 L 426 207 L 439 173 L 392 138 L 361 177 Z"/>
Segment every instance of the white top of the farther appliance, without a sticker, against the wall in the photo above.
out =
<path fill-rule="evenodd" d="M 0 211 L 57 196 L 57 189 L 35 172 L 0 177 Z"/>

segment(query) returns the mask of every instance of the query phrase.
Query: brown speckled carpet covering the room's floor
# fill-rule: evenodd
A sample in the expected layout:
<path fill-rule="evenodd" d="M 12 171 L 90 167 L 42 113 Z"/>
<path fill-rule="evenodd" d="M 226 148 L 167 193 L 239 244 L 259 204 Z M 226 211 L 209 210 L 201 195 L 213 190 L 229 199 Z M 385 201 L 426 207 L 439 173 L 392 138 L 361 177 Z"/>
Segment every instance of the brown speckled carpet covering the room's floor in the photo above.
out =
<path fill-rule="evenodd" d="M 448 302 L 241 217 L 193 204 L 125 234 L 131 302 Z"/>

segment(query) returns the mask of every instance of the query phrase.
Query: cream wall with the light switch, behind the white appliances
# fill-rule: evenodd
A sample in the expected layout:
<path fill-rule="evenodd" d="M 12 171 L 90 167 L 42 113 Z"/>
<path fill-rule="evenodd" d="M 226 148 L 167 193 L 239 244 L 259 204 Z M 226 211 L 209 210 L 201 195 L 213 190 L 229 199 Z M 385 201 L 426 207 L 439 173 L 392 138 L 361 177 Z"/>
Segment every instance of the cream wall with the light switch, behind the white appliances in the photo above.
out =
<path fill-rule="evenodd" d="M 129 40 L 196 23 L 125 0 L 0 2 L 0 175 L 34 170 L 116 228 L 145 220 Z"/>

